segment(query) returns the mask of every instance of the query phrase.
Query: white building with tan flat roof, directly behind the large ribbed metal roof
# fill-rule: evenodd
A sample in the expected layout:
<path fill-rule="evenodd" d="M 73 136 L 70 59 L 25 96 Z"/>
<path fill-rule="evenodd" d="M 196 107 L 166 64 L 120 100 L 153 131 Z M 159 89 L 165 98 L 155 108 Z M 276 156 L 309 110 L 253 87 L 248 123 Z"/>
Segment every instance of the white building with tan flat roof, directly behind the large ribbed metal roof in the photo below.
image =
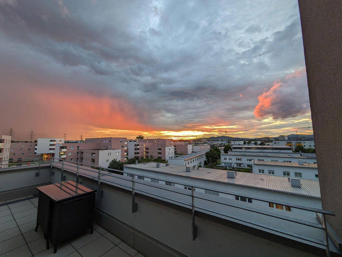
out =
<path fill-rule="evenodd" d="M 318 180 L 317 164 L 307 163 L 304 158 L 298 159 L 297 162 L 255 160 L 253 163 L 253 173 Z"/>

